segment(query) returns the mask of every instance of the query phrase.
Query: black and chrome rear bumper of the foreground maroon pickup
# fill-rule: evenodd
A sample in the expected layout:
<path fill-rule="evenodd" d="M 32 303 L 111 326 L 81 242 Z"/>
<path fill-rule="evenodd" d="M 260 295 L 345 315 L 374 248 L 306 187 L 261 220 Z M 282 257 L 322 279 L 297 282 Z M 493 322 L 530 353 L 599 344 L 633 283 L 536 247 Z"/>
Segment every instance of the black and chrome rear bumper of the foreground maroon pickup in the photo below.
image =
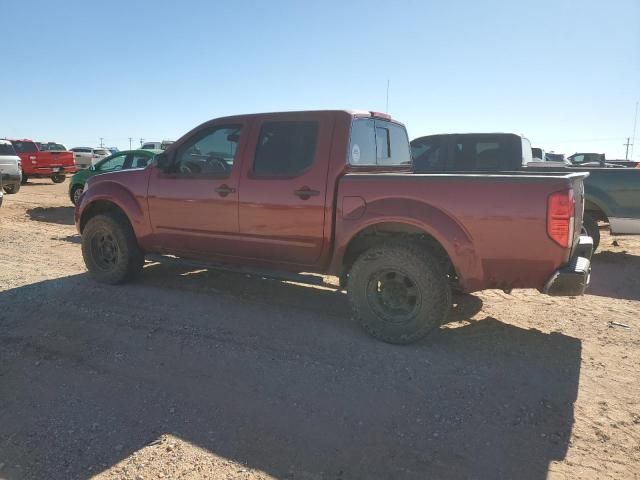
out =
<path fill-rule="evenodd" d="M 576 297 L 584 295 L 591 280 L 591 255 L 593 240 L 581 235 L 578 246 L 569 263 L 556 270 L 542 289 L 542 293 L 554 297 Z"/>

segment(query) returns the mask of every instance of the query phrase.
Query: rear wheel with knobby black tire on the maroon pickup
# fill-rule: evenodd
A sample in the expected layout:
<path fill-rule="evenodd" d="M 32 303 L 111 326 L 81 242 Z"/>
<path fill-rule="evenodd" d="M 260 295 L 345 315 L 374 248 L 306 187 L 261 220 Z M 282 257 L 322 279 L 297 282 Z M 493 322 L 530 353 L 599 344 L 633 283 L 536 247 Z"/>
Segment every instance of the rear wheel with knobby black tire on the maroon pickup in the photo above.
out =
<path fill-rule="evenodd" d="M 451 308 L 449 279 L 418 244 L 373 247 L 355 261 L 347 288 L 354 317 L 371 336 L 387 343 L 415 342 L 444 322 Z"/>

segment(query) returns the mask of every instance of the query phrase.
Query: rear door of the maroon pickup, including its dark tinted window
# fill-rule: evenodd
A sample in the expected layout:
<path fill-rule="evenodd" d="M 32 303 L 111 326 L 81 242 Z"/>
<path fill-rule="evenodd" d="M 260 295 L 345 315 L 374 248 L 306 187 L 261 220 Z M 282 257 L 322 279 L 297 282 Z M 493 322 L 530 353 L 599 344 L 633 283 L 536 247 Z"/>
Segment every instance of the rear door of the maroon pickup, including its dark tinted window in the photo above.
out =
<path fill-rule="evenodd" d="M 333 122 L 307 113 L 257 123 L 240 180 L 243 256 L 296 265 L 320 257 Z"/>

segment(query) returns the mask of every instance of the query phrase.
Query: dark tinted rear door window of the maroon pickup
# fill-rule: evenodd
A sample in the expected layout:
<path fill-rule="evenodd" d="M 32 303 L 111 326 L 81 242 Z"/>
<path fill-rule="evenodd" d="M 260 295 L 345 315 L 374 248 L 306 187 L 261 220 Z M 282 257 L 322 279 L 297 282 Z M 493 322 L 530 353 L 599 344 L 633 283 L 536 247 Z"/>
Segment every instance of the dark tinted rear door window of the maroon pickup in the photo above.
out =
<path fill-rule="evenodd" d="M 258 177 L 294 177 L 313 163 L 318 122 L 265 122 L 260 129 L 253 174 Z"/>

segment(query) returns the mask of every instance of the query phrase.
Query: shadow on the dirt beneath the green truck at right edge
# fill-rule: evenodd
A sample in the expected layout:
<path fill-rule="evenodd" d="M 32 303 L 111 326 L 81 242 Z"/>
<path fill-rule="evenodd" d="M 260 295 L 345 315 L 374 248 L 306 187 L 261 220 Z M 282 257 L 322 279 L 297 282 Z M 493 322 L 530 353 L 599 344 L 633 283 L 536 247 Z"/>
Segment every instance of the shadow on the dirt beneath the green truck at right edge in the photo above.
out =
<path fill-rule="evenodd" d="M 592 257 L 589 295 L 640 300 L 640 257 L 626 251 L 602 251 Z"/>

